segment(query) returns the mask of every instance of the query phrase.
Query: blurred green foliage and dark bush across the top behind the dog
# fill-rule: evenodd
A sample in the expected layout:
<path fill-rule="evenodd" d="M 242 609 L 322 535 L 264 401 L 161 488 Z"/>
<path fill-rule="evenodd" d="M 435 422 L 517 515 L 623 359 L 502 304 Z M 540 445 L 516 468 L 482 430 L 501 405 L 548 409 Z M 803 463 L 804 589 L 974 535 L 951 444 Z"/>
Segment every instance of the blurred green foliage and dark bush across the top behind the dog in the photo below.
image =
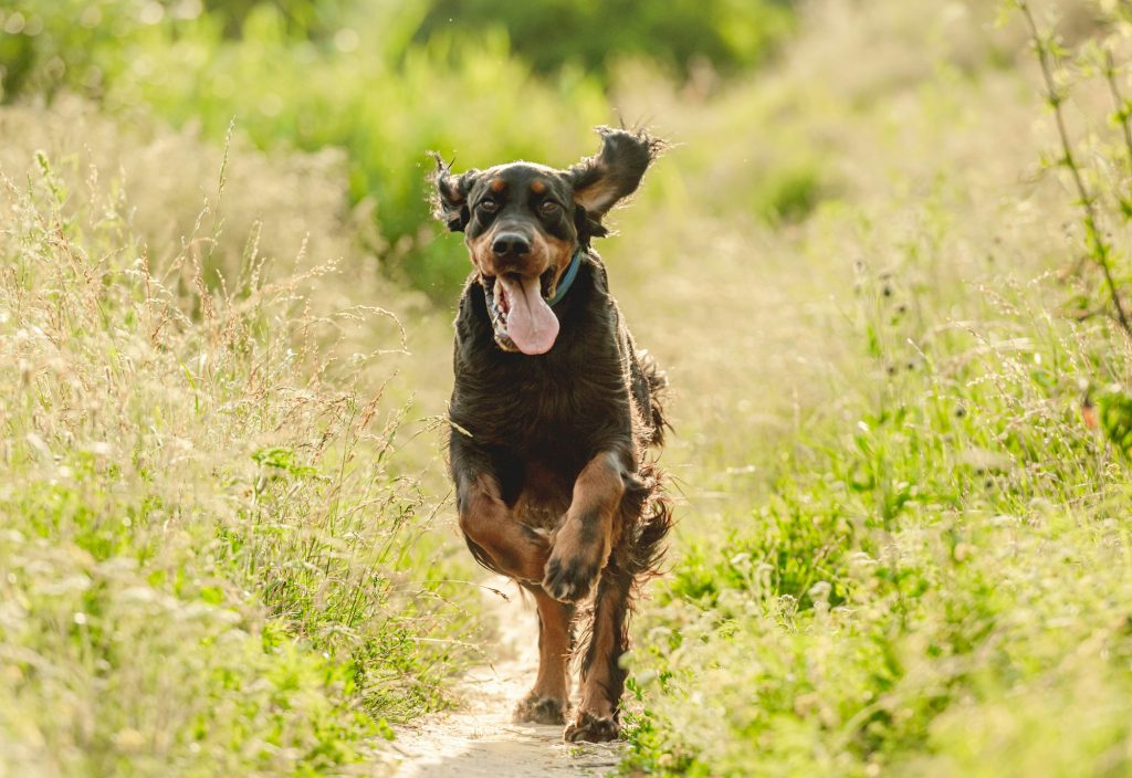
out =
<path fill-rule="evenodd" d="M 443 296 L 464 265 L 422 230 L 424 150 L 567 164 L 589 128 L 653 119 L 619 110 L 631 71 L 702 100 L 794 24 L 787 0 L 43 0 L 9 3 L 0 63 L 9 103 L 66 92 L 214 141 L 232 124 L 259 148 L 344 150 L 375 254 Z M 766 208 L 811 194 L 792 197 Z"/>

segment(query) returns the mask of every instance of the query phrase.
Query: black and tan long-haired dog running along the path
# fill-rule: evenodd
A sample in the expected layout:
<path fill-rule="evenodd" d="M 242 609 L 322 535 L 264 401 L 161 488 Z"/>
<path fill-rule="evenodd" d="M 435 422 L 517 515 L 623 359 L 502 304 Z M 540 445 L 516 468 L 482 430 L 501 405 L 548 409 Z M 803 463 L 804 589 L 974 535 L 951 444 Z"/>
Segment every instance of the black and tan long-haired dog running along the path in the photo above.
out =
<path fill-rule="evenodd" d="M 539 673 L 515 719 L 563 724 L 576 606 L 590 612 L 567 741 L 619 732 L 627 622 L 671 524 L 650 446 L 664 381 L 638 354 L 591 241 L 662 148 L 599 129 L 569 170 L 515 162 L 456 175 L 437 159 L 436 215 L 473 273 L 456 318 L 451 465 L 460 527 L 539 611 Z"/>

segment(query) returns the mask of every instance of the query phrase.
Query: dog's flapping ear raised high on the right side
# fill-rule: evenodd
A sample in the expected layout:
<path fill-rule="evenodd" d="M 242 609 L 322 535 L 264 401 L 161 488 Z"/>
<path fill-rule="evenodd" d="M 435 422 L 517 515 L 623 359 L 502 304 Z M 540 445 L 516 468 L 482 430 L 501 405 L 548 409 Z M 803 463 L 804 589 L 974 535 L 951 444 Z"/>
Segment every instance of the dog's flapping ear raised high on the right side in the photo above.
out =
<path fill-rule="evenodd" d="M 580 227 L 600 237 L 609 232 L 601 224 L 602 217 L 636 191 L 645 170 L 666 144 L 644 130 L 599 127 L 598 135 L 601 150 L 566 171 L 566 178 L 574 188 Z"/>

